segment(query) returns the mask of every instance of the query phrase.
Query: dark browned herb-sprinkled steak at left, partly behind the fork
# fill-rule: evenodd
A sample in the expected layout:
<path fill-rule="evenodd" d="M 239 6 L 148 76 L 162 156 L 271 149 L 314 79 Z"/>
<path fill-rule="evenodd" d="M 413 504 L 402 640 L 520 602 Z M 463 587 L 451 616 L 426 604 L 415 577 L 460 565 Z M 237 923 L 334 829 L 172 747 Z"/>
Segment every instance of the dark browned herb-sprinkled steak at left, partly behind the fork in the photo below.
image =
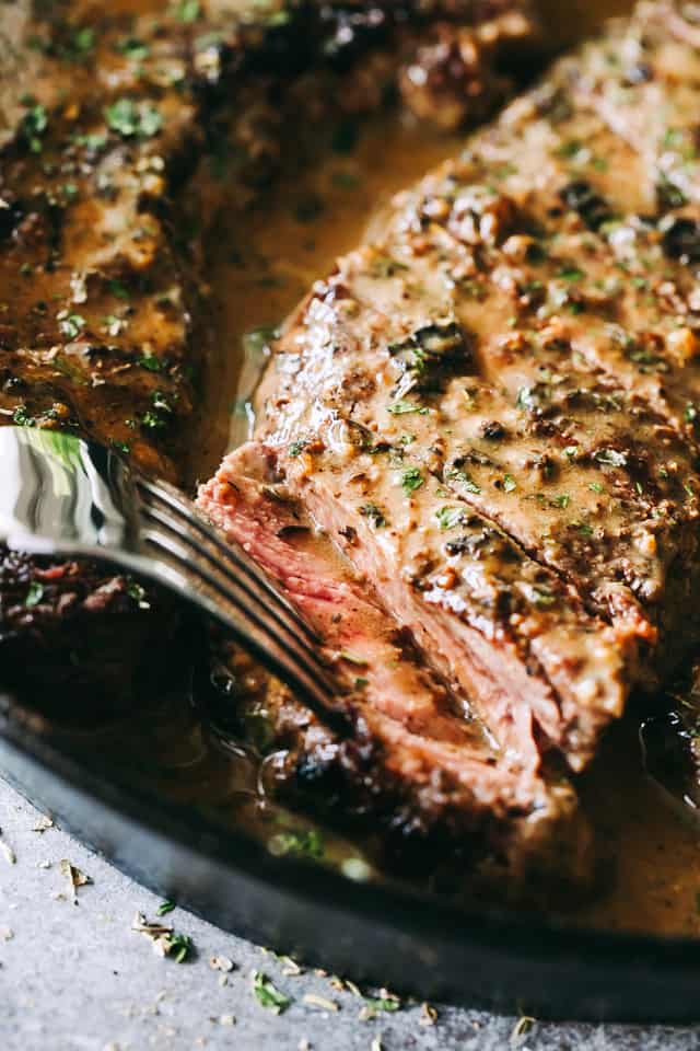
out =
<path fill-rule="evenodd" d="M 0 417 L 97 439 L 183 482 L 211 346 L 192 233 L 221 203 L 210 168 L 235 158 L 229 199 L 249 200 L 293 138 L 311 149 L 320 124 L 375 108 L 423 61 L 419 34 L 448 53 L 425 58 L 422 112 L 439 92 L 476 118 L 505 90 L 489 73 L 501 43 L 529 28 L 505 0 L 138 7 L 27 0 L 0 15 Z M 291 135 L 301 113 L 304 136 Z M 112 709 L 133 695 L 141 657 L 167 648 L 176 617 L 150 587 L 96 564 L 7 552 L 0 564 L 3 685 L 26 700 L 60 711 L 102 696 Z"/>

